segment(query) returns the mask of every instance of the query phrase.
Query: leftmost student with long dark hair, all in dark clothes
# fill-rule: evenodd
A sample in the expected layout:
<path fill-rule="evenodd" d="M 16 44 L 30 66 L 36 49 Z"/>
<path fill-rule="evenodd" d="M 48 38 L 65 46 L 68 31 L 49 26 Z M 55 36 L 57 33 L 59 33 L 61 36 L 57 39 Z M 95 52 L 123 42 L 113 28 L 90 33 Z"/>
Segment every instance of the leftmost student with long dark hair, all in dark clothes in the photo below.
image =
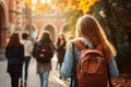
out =
<path fill-rule="evenodd" d="M 11 77 L 11 87 L 19 87 L 19 79 L 22 74 L 24 60 L 24 46 L 20 42 L 19 34 L 11 35 L 5 47 L 5 58 L 8 59 L 8 73 Z"/>

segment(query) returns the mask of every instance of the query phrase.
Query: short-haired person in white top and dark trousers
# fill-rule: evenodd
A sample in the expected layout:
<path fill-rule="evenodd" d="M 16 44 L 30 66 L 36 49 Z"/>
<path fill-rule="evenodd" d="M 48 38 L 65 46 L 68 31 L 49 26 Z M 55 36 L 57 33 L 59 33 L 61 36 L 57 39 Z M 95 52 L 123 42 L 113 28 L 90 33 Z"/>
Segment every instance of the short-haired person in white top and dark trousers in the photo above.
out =
<path fill-rule="evenodd" d="M 21 76 L 21 87 L 27 85 L 27 77 L 28 77 L 28 65 L 32 58 L 33 51 L 33 42 L 29 40 L 29 36 L 27 33 L 22 34 L 21 42 L 24 45 L 24 67 L 23 67 L 23 75 Z M 24 80 L 23 80 L 24 79 Z"/>

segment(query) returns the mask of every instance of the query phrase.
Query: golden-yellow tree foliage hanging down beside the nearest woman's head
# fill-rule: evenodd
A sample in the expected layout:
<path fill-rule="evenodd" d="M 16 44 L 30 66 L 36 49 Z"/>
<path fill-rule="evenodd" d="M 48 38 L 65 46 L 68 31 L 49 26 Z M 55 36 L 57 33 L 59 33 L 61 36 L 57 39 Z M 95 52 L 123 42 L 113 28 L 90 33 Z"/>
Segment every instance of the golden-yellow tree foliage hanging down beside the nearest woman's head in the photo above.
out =
<path fill-rule="evenodd" d="M 69 35 L 74 35 L 78 18 L 86 14 L 90 8 L 98 0 L 57 0 L 57 9 L 62 9 L 64 13 L 63 16 L 67 17 Z"/>

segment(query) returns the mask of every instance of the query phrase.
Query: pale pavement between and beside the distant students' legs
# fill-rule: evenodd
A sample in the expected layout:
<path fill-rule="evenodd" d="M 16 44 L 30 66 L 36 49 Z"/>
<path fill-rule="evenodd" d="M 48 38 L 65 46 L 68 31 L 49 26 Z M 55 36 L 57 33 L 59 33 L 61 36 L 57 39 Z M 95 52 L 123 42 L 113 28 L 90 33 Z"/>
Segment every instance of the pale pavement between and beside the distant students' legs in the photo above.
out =
<path fill-rule="evenodd" d="M 49 75 L 49 86 L 48 87 L 69 87 L 70 79 L 63 80 L 59 79 L 59 71 L 55 70 L 56 58 L 52 59 L 52 71 Z M 7 61 L 0 61 L 0 87 L 11 87 L 10 76 L 7 73 Z M 28 80 L 27 87 L 40 87 L 39 76 L 36 74 L 36 61 L 31 60 L 28 67 Z"/>

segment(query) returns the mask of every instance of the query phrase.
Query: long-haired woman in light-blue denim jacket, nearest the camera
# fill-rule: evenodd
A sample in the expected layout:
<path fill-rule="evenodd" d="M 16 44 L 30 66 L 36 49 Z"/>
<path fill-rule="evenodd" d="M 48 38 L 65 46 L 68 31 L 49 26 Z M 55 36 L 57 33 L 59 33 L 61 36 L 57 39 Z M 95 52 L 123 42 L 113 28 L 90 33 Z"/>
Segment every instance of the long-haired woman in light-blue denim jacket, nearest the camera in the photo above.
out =
<path fill-rule="evenodd" d="M 81 18 L 79 18 L 76 24 L 76 37 L 78 37 L 76 39 L 68 44 L 64 61 L 61 66 L 61 74 L 64 78 L 72 77 L 73 75 L 71 87 L 76 87 L 78 84 L 75 76 L 78 73 L 76 65 L 80 61 L 79 58 L 81 54 L 81 50 L 74 45 L 74 55 L 72 53 L 73 51 L 72 42 L 76 40 L 80 40 L 84 46 L 91 49 L 97 47 L 98 45 L 102 45 L 104 57 L 106 58 L 109 64 L 107 67 L 109 69 L 110 77 L 118 76 L 119 72 L 118 72 L 117 63 L 114 59 L 116 57 L 116 50 L 112 47 L 112 45 L 109 42 L 109 40 L 106 38 L 106 35 L 103 28 L 100 27 L 100 25 L 98 24 L 98 22 L 93 16 L 84 15 Z M 82 82 L 86 82 L 86 80 L 82 80 Z"/>

